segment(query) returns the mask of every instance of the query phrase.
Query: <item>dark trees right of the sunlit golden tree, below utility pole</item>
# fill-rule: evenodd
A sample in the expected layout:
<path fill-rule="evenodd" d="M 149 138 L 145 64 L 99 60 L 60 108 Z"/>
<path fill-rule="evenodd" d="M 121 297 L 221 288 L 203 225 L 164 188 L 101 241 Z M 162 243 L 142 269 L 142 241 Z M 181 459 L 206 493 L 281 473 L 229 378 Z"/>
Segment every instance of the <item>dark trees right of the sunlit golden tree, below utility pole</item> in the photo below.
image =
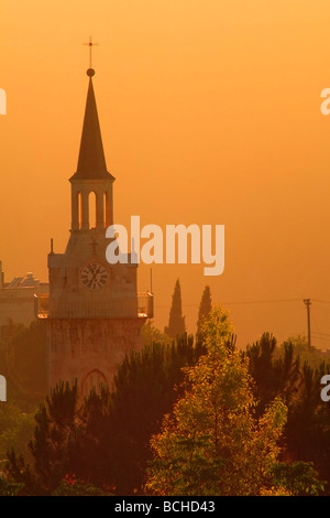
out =
<path fill-rule="evenodd" d="M 318 367 L 311 367 L 307 360 L 301 363 L 296 353 L 302 357 L 311 355 Z M 253 391 L 260 400 L 257 413 L 276 396 L 284 398 L 288 406 L 284 456 L 295 462 L 312 462 L 320 477 L 329 481 L 330 407 L 320 398 L 320 379 L 330 371 L 329 364 L 320 361 L 321 356 L 317 364 L 316 353 L 308 352 L 307 343 L 300 337 L 284 342 L 276 349 L 276 341 L 268 333 L 249 346 L 243 357 L 249 358 Z"/>

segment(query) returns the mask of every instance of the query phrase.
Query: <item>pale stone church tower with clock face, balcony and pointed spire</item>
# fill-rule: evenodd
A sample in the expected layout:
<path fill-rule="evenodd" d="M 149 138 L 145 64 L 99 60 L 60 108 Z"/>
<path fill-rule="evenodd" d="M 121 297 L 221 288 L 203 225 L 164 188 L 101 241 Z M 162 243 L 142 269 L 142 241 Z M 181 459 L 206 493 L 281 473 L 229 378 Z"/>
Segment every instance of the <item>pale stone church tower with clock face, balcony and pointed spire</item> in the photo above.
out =
<path fill-rule="evenodd" d="M 106 228 L 113 224 L 113 182 L 107 170 L 92 77 L 72 186 L 72 228 L 65 253 L 48 253 L 48 385 L 78 379 L 80 395 L 110 386 L 127 352 L 139 349 L 152 316 L 152 294 L 138 294 L 136 267 L 109 265 Z"/>

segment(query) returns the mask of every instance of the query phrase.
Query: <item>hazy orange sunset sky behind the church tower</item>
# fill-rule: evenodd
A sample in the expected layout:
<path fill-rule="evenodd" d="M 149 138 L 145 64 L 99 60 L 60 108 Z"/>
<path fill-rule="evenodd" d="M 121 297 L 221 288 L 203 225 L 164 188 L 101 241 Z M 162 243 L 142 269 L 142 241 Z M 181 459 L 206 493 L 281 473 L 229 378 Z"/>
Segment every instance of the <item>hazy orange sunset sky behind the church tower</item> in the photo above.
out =
<path fill-rule="evenodd" d="M 328 0 L 0 0 L 6 280 L 46 280 L 50 238 L 65 249 L 92 34 L 116 222 L 226 225 L 221 277 L 153 268 L 155 324 L 178 277 L 188 331 L 209 283 L 215 302 L 297 300 L 228 304 L 239 345 L 306 333 L 302 299 L 330 301 L 329 28 Z M 329 314 L 312 304 L 317 346 Z"/>

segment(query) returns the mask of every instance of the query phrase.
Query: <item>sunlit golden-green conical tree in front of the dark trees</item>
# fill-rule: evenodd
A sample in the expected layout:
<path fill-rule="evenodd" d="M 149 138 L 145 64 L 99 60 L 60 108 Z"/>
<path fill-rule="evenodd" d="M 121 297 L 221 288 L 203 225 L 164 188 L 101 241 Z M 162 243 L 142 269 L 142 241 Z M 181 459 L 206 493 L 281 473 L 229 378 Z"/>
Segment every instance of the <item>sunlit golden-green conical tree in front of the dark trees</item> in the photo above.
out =
<path fill-rule="evenodd" d="M 146 488 L 160 495 L 258 495 L 270 483 L 287 409 L 276 398 L 256 422 L 246 361 L 228 347 L 221 309 L 202 327 L 207 354 L 186 368 L 186 391 L 152 439 Z"/>

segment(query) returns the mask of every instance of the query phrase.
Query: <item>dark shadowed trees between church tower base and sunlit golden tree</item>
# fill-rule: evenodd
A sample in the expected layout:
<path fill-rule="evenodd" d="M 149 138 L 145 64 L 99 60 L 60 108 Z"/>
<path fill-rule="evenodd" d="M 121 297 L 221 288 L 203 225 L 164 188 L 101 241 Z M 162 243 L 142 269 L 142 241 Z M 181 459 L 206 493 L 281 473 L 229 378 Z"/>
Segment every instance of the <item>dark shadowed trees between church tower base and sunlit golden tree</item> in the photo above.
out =
<path fill-rule="evenodd" d="M 32 467 L 11 452 L 10 475 L 24 482 L 26 494 L 50 495 L 73 472 L 84 485 L 107 484 L 121 495 L 141 493 L 150 438 L 178 397 L 182 367 L 196 363 L 201 353 L 186 335 L 176 345 L 132 352 L 118 369 L 113 391 L 91 391 L 80 407 L 76 386 L 61 384 L 36 412 Z"/>

